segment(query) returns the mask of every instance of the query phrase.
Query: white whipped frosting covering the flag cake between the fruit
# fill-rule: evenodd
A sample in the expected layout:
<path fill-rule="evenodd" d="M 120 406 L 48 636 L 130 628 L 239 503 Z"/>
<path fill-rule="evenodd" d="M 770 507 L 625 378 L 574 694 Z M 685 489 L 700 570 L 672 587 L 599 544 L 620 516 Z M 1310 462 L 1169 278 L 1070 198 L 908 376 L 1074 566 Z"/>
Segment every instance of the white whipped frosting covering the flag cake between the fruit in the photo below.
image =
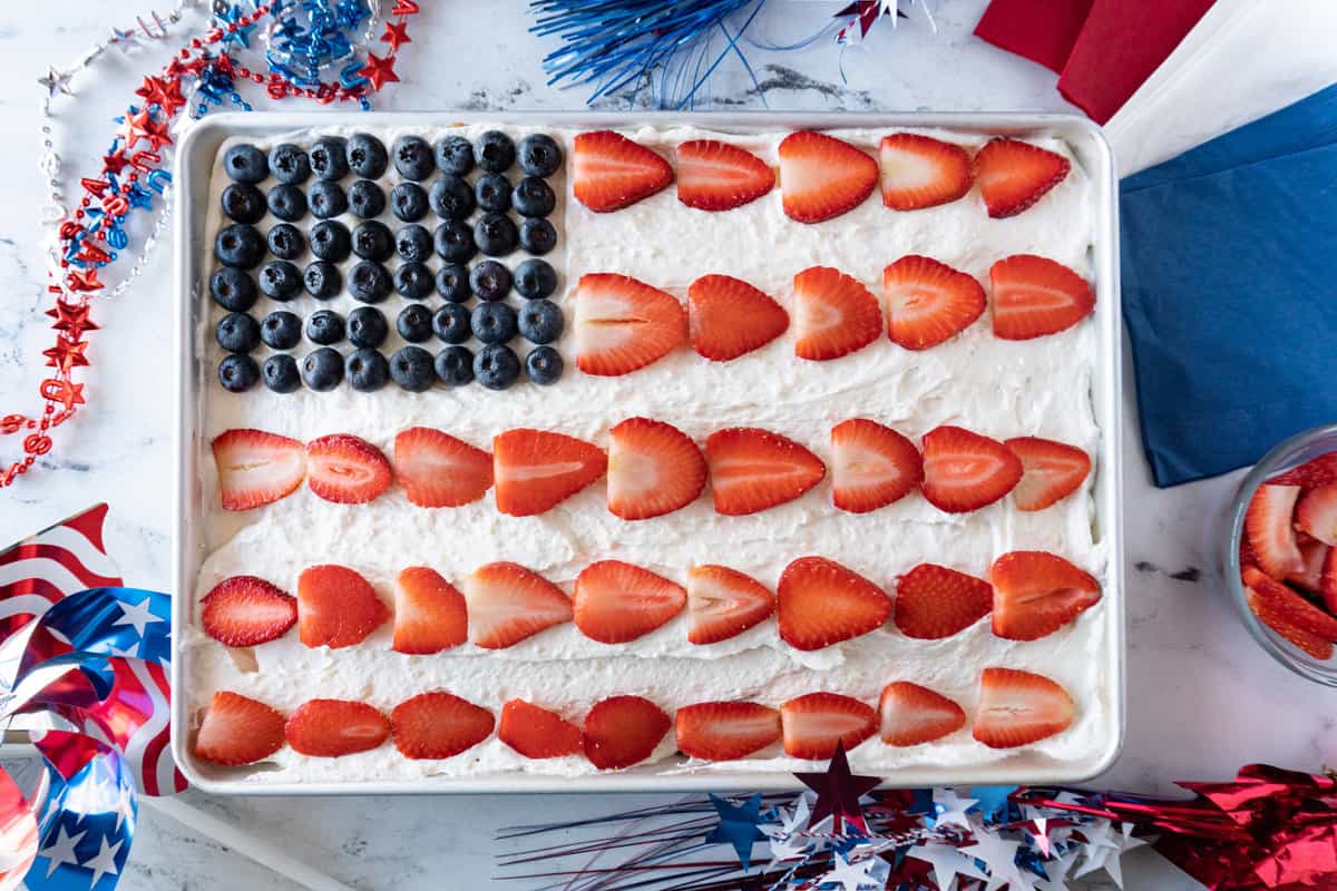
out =
<path fill-rule="evenodd" d="M 472 136 L 481 130 L 473 126 L 459 132 Z M 504 130 L 519 138 L 533 128 Z M 431 128 L 413 132 L 429 140 L 441 135 Z M 380 135 L 389 144 L 397 132 Z M 574 132 L 554 135 L 570 154 Z M 628 135 L 671 156 L 674 143 L 705 134 L 644 128 Z M 709 135 L 737 142 L 777 163 L 782 134 Z M 834 135 L 873 151 L 882 134 Z M 972 148 L 987 139 L 933 135 Z M 314 138 L 289 135 L 269 144 L 309 144 Z M 1058 140 L 1036 142 L 1072 156 Z M 393 167 L 388 178 L 397 180 Z M 225 182 L 215 170 L 214 195 Z M 554 299 L 563 306 L 568 323 L 570 286 L 592 271 L 624 273 L 678 295 L 699 275 L 725 273 L 757 285 L 786 307 L 794 273 L 808 266 L 834 266 L 862 279 L 876 294 L 882 267 L 909 252 L 935 256 L 985 283 L 989 264 L 1016 252 L 1042 254 L 1091 274 L 1092 198 L 1075 159 L 1072 174 L 1035 207 L 1001 220 L 987 216 L 976 191 L 952 204 L 904 214 L 884 208 L 874 192 L 840 218 L 804 226 L 783 215 L 778 190 L 741 208 L 710 214 L 681 204 L 670 187 L 626 210 L 594 214 L 568 200 L 560 175 L 554 186 L 559 194 L 552 218 L 559 247 L 548 259 L 559 270 L 562 287 Z M 213 234 L 219 212 L 213 207 L 210 214 L 207 231 Z M 392 230 L 401 224 L 389 214 L 382 220 Z M 263 231 L 274 222 L 266 219 L 259 227 Z M 310 222 L 308 218 L 302 226 Z M 357 220 L 344 222 L 353 228 Z M 429 218 L 422 224 L 431 228 L 436 222 Z M 517 251 L 508 262 L 515 264 L 524 256 Z M 439 266 L 431 263 L 433 271 Z M 424 302 L 435 307 L 440 298 Z M 386 354 L 401 345 L 393 334 L 393 319 L 406 303 L 396 294 L 381 305 L 392 327 L 390 341 L 382 347 Z M 346 294 L 329 302 L 302 295 L 286 309 L 305 318 L 322 306 L 346 314 L 356 302 Z M 262 297 L 253 313 L 263 318 L 281 307 Z M 570 353 L 572 338 L 564 337 L 558 347 L 567 359 L 567 373 L 551 387 L 521 382 L 504 393 L 473 385 L 410 394 L 390 383 L 370 394 L 354 393 L 345 385 L 332 393 L 299 390 L 278 395 L 258 386 L 235 395 L 225 393 L 211 377 L 221 358 L 213 325 L 222 310 L 215 306 L 205 315 L 209 322 L 198 335 L 205 338 L 199 354 L 209 381 L 201 407 L 206 449 L 214 435 L 241 426 L 303 441 L 353 433 L 388 456 L 394 434 L 413 425 L 440 427 L 484 449 L 493 434 L 516 426 L 558 430 L 607 445 L 614 423 L 647 415 L 678 426 L 698 442 L 719 427 L 762 426 L 829 460 L 830 427 L 850 417 L 869 417 L 916 439 L 940 423 L 957 423 L 997 438 L 1050 437 L 1082 446 L 1100 465 L 1091 405 L 1096 339 L 1090 321 L 1058 335 L 1016 343 L 995 338 L 985 314 L 957 338 L 928 351 L 906 351 L 882 338 L 833 362 L 794 358 L 792 334 L 729 363 L 707 362 L 683 346 L 646 369 L 615 378 L 576 371 Z M 305 349 L 306 343 L 297 353 Z M 346 353 L 352 347 L 344 343 L 340 349 Z M 255 355 L 262 361 L 265 350 Z M 606 509 L 603 482 L 539 517 L 503 516 L 491 496 L 464 508 L 428 510 L 410 505 L 398 489 L 368 505 L 344 506 L 321 501 L 306 488 L 258 510 L 230 513 L 218 506 L 217 477 L 207 454 L 202 466 L 205 504 L 210 505 L 205 517 L 209 557 L 199 573 L 197 597 L 222 578 L 242 573 L 262 576 L 295 593 L 302 568 L 317 562 L 357 569 L 386 598 L 394 574 L 404 566 L 429 565 L 460 582 L 473 568 L 493 560 L 524 564 L 568 590 L 583 566 L 608 557 L 679 581 L 693 565 L 721 562 L 774 586 L 790 560 L 821 554 L 889 592 L 894 590 L 896 576 L 919 562 L 984 576 L 995 557 L 1015 549 L 1051 550 L 1096 576 L 1106 565 L 1104 545 L 1092 532 L 1090 482 L 1039 513 L 1019 512 L 1004 500 L 984 510 L 952 516 L 916 493 L 878 512 L 856 516 L 830 504 L 830 484 L 825 481 L 797 501 L 747 517 L 717 516 L 707 490 L 679 512 L 627 522 Z M 412 695 L 444 688 L 493 712 L 507 699 L 523 697 L 579 721 L 590 705 L 616 693 L 647 696 L 670 713 L 681 705 L 721 699 L 778 705 L 818 689 L 876 704 L 888 681 L 904 679 L 956 699 L 972 713 L 980 669 L 1007 665 L 1054 677 L 1074 695 L 1074 725 L 1031 748 L 1042 759 L 1064 763 L 1096 751 L 1116 720 L 1115 704 L 1106 701 L 1096 683 L 1104 664 L 1108 618 L 1102 604 L 1068 628 L 1031 643 L 993 637 L 987 618 L 940 641 L 908 639 L 889 624 L 813 653 L 783 645 L 774 621 L 721 644 L 693 647 L 682 617 L 615 647 L 587 640 L 575 627 L 563 625 L 504 651 L 465 645 L 435 656 L 390 651 L 389 624 L 362 645 L 338 651 L 308 649 L 294 631 L 255 648 L 254 657 L 250 652 L 230 652 L 191 627 L 182 641 L 187 660 L 187 689 L 182 695 L 190 697 L 193 715 L 218 689 L 233 689 L 285 711 L 316 696 L 358 699 L 389 711 Z M 258 671 L 247 671 L 255 667 Z M 874 737 L 850 752 L 850 763 L 856 769 L 888 776 L 900 767 L 969 767 L 1005 756 L 976 743 L 967 728 L 913 748 L 889 747 Z M 778 747 L 745 761 L 687 761 L 675 756 L 671 731 L 652 761 L 636 769 L 783 771 L 806 764 L 785 757 Z M 262 784 L 394 781 L 505 771 L 576 775 L 594 768 L 583 757 L 528 760 L 493 736 L 440 761 L 404 759 L 389 743 L 342 759 L 312 759 L 285 748 L 265 765 L 218 775 Z"/>

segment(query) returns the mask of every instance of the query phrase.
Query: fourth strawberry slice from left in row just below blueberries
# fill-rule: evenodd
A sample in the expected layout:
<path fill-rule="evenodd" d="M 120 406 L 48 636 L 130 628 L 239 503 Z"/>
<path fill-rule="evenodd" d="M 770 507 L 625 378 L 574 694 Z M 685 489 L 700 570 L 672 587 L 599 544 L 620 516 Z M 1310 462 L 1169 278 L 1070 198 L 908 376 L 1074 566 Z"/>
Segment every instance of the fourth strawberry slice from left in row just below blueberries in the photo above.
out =
<path fill-rule="evenodd" d="M 507 430 L 492 439 L 497 510 L 532 517 L 603 476 L 608 458 L 584 439 L 545 430 Z"/>

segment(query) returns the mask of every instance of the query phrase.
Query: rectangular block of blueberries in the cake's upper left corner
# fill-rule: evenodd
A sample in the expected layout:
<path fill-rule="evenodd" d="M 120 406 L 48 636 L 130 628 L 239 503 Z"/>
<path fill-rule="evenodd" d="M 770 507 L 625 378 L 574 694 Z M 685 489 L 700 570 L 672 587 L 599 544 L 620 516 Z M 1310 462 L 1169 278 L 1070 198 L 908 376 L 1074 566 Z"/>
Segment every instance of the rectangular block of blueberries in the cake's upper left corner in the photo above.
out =
<path fill-rule="evenodd" d="M 524 176 L 512 186 L 505 172 L 516 160 Z M 390 163 L 406 182 L 394 186 L 386 199 L 376 180 Z M 562 335 L 564 319 L 548 299 L 558 287 L 556 271 L 540 256 L 556 246 L 556 230 L 545 219 L 556 195 L 545 178 L 560 166 L 562 150 L 550 136 L 535 134 L 516 147 L 499 131 L 488 131 L 473 143 L 445 136 L 435 146 L 418 136 L 401 136 L 389 151 L 369 134 L 346 140 L 326 136 L 310 151 L 285 143 L 267 156 L 250 144 L 229 148 L 223 170 L 233 182 L 221 202 L 233 222 L 214 242 L 222 269 L 210 278 L 210 294 L 227 310 L 215 329 L 218 345 L 227 353 L 218 366 L 219 382 L 243 391 L 263 378 L 277 393 L 303 385 L 332 390 L 344 379 L 361 391 L 378 390 L 392 379 L 410 391 L 475 379 L 504 390 L 521 371 L 535 383 L 556 382 L 563 362 L 551 343 Z M 471 184 L 465 175 L 475 167 L 483 172 Z M 437 171 L 431 188 L 424 190 L 420 183 Z M 340 180 L 350 172 L 358 179 L 345 191 Z M 277 184 L 262 192 L 258 184 L 270 175 Z M 313 175 L 316 182 L 303 191 Z M 405 223 L 396 232 L 376 219 L 386 207 Z M 511 210 L 521 218 L 519 226 L 508 215 Z M 255 224 L 266 212 L 281 222 L 262 236 Z M 348 212 L 361 220 L 352 231 L 334 219 Z M 429 212 L 443 220 L 435 231 L 420 222 Z M 303 234 L 293 223 L 308 214 L 318 222 Z M 533 256 L 513 273 L 492 259 L 516 247 Z M 313 262 L 298 269 L 294 260 L 308 251 Z M 265 262 L 266 252 L 274 259 Z M 390 273 L 385 263 L 396 254 L 400 262 Z M 433 254 L 444 260 L 436 274 L 427 266 Z M 476 259 L 479 254 L 485 259 Z M 338 264 L 354 255 L 346 290 L 366 306 L 348 318 L 330 309 L 313 313 L 305 323 L 287 310 L 262 321 L 250 314 L 261 294 L 281 303 L 303 291 L 317 301 L 340 295 L 345 282 Z M 519 310 L 504 299 L 512 290 L 525 298 Z M 386 358 L 380 347 L 389 337 L 389 322 L 374 305 L 393 291 L 410 301 L 436 291 L 445 302 L 435 311 L 420 302 L 405 306 L 394 327 L 406 345 Z M 479 298 L 472 310 L 465 306 L 471 297 Z M 301 365 L 287 353 L 275 353 L 261 367 L 249 355 L 261 343 L 291 350 L 303 334 L 317 349 Z M 533 345 L 523 363 L 508 346 L 517 334 Z M 418 346 L 433 337 L 447 345 L 435 357 Z M 483 345 L 476 355 L 464 346 L 471 337 Z M 356 347 L 346 357 L 334 349 L 345 338 Z"/>

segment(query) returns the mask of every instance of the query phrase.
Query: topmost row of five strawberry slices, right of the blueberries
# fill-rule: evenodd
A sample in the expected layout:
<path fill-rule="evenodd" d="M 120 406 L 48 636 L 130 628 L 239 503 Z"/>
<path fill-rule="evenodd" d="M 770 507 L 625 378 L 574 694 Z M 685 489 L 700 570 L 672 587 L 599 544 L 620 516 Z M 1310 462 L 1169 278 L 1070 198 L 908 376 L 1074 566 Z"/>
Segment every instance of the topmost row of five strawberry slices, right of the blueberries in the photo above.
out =
<path fill-rule="evenodd" d="M 693 139 L 674 150 L 678 200 L 705 211 L 742 207 L 777 184 L 785 215 L 820 223 L 845 214 L 881 182 L 882 203 L 898 211 L 964 198 L 973 183 L 989 216 L 1015 216 L 1068 175 L 1071 162 L 1019 139 L 993 139 L 972 158 L 964 146 L 919 134 L 890 134 L 874 159 L 842 139 L 814 131 L 779 143 L 779 176 L 746 148 Z M 674 166 L 611 130 L 580 134 L 572 151 L 576 200 L 596 212 L 630 207 L 667 188 Z"/>

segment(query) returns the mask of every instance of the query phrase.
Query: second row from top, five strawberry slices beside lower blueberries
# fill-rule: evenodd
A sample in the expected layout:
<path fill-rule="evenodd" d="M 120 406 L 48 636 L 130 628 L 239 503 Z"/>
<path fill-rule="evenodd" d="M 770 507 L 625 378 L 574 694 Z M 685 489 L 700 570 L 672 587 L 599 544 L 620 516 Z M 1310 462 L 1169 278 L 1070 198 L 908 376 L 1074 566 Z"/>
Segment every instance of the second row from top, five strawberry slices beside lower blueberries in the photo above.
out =
<path fill-rule="evenodd" d="M 1095 309 L 1091 285 L 1067 266 L 1016 254 L 989 269 L 993 334 L 1029 341 L 1064 331 Z M 882 298 L 828 266 L 794 275 L 794 355 L 822 362 L 857 353 L 886 335 L 908 350 L 956 337 L 985 310 L 975 277 L 909 254 L 882 270 Z M 766 346 L 790 327 L 770 294 L 730 275 L 703 275 L 687 289 L 687 310 L 668 291 L 616 273 L 582 275 L 575 289 L 576 366 L 618 377 L 651 365 L 686 341 L 702 357 L 727 362 Z"/>

